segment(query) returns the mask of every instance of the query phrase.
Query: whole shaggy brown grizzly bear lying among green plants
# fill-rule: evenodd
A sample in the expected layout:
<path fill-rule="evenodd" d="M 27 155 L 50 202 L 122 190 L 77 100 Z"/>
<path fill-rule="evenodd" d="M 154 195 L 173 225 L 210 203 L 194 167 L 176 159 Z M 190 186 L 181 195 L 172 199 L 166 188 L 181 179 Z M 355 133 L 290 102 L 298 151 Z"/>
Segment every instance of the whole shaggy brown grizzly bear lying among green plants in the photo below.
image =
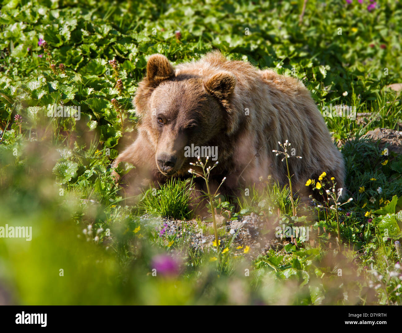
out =
<path fill-rule="evenodd" d="M 210 166 L 219 162 L 211 170 L 212 186 L 226 177 L 223 193 L 236 193 L 269 175 L 285 185 L 286 163 L 273 152 L 285 140 L 302 157 L 289 158 L 295 192 L 308 194 L 306 181 L 323 171 L 335 177 L 337 188 L 344 186 L 342 155 L 310 92 L 295 78 L 227 60 L 218 51 L 175 68 L 154 54 L 134 103 L 137 139 L 113 164 L 135 166 L 126 176 L 131 193 L 150 182 L 191 177 L 189 169 L 196 167 L 190 162 L 197 156 L 205 160 L 207 154 Z M 196 191 L 204 185 L 195 179 Z"/>

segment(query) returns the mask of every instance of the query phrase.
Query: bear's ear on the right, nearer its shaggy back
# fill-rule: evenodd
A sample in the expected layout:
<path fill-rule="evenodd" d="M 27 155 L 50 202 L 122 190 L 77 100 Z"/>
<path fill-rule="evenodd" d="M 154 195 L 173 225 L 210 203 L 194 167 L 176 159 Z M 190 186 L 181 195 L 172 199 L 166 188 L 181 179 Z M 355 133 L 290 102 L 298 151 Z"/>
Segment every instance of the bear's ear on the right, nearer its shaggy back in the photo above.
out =
<path fill-rule="evenodd" d="M 229 72 L 219 72 L 204 80 L 203 84 L 208 93 L 226 105 L 236 85 L 236 78 Z"/>

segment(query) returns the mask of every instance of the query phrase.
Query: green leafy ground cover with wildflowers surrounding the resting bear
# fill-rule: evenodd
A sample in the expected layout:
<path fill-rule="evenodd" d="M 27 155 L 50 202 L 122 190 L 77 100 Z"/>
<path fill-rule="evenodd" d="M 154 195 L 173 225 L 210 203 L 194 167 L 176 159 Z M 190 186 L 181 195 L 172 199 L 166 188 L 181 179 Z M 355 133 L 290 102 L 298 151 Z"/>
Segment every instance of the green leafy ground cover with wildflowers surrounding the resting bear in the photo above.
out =
<path fill-rule="evenodd" d="M 401 304 L 402 158 L 364 135 L 393 129 L 401 141 L 401 98 L 387 86 L 402 82 L 402 5 L 307 1 L 301 17 L 303 2 L 4 2 L 0 212 L 2 226 L 32 226 L 32 240 L 0 238 L 0 299 Z M 183 183 L 124 200 L 111 162 L 135 136 L 147 59 L 211 49 L 304 82 L 345 157 L 346 199 L 292 203 L 264 179 L 237 205 L 213 200 L 219 242 Z M 338 116 L 343 106 L 356 117 Z M 80 112 L 57 116 L 66 109 Z M 332 193 L 331 175 L 308 186 Z"/>

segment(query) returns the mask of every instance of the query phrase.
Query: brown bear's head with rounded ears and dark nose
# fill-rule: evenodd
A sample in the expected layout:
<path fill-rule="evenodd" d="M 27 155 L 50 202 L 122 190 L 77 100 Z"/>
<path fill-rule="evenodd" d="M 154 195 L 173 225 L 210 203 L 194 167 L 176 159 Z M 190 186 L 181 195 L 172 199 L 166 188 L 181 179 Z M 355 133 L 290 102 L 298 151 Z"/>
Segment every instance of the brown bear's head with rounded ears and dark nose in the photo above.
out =
<path fill-rule="evenodd" d="M 154 54 L 139 84 L 134 103 L 140 129 L 164 175 L 189 175 L 189 162 L 197 156 L 188 156 L 186 150 L 192 144 L 208 147 L 233 131 L 230 100 L 236 78 L 226 71 L 199 73 L 195 69 L 175 73 L 165 56 Z"/>

